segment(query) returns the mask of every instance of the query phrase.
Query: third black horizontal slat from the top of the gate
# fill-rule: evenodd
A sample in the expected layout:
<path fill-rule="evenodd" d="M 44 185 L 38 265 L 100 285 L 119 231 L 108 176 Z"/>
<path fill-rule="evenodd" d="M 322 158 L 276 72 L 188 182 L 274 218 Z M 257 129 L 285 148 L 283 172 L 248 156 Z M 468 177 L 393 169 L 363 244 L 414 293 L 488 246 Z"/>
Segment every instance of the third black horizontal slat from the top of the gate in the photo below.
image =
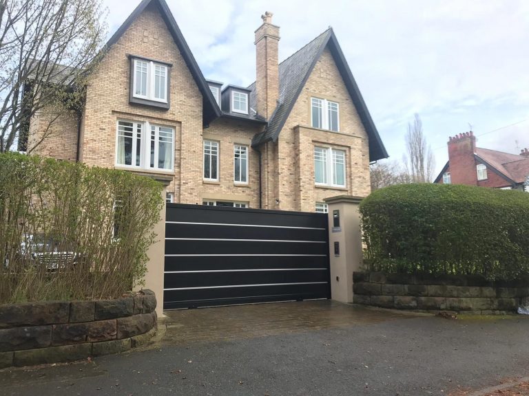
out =
<path fill-rule="evenodd" d="M 328 254 L 326 243 L 165 241 L 165 254 Z"/>

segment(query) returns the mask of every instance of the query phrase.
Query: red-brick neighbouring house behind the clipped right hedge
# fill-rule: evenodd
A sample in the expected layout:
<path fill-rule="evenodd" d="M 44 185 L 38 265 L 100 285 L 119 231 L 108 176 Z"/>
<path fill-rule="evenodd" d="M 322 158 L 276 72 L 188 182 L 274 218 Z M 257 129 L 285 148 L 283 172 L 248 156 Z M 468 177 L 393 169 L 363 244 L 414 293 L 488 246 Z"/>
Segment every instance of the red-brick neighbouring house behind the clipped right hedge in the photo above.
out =
<path fill-rule="evenodd" d="M 528 190 L 529 151 L 520 155 L 476 147 L 470 131 L 450 137 L 448 162 L 434 183 Z"/>

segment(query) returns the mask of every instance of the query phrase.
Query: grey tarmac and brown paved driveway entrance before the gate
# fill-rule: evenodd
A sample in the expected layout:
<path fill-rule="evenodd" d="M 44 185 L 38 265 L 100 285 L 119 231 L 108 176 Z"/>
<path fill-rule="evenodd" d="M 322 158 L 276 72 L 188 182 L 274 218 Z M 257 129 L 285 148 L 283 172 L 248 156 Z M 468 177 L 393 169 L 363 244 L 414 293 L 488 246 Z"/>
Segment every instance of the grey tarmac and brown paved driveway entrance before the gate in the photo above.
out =
<path fill-rule="evenodd" d="M 0 395 L 457 395 L 529 374 L 529 318 L 329 300 L 170 311 L 141 351 L 0 371 Z"/>

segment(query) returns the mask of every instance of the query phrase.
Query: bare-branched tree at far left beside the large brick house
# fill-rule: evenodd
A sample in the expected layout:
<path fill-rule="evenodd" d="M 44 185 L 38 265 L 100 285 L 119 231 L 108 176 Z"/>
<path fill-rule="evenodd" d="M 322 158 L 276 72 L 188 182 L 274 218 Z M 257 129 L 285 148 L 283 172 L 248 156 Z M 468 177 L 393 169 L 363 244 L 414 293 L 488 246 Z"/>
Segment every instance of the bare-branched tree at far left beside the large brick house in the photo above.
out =
<path fill-rule="evenodd" d="M 0 152 L 43 108 L 50 124 L 79 108 L 106 35 L 101 16 L 101 0 L 0 0 Z"/>

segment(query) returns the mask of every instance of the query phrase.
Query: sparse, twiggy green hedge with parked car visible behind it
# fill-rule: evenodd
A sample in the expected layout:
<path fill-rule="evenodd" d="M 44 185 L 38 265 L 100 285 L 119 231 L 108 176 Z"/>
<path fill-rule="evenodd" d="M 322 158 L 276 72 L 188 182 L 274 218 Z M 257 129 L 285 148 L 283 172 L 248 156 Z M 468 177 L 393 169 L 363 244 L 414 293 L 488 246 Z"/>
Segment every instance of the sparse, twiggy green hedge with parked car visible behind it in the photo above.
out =
<path fill-rule="evenodd" d="M 115 298 L 141 284 L 161 188 L 131 172 L 0 154 L 0 304 Z"/>

